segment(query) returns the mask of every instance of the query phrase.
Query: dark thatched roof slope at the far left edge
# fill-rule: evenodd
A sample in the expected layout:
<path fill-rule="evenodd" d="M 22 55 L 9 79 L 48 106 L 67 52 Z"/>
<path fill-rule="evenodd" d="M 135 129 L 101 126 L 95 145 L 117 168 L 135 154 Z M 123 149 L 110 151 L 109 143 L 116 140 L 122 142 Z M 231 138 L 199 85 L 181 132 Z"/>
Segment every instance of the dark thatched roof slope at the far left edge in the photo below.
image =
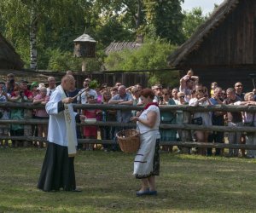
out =
<path fill-rule="evenodd" d="M 20 55 L 0 33 L 0 69 L 21 69 L 23 66 Z"/>

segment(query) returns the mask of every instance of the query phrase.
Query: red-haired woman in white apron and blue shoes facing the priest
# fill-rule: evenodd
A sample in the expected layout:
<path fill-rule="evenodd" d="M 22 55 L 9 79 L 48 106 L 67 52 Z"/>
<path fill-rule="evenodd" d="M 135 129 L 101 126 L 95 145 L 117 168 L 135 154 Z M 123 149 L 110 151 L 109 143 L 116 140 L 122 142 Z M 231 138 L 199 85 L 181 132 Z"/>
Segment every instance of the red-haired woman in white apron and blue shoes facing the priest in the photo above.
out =
<path fill-rule="evenodd" d="M 153 102 L 154 92 L 143 89 L 141 101 L 144 110 L 139 117 L 131 117 L 137 121 L 137 130 L 140 132 L 141 146 L 134 160 L 133 175 L 142 180 L 142 188 L 137 191 L 137 196 L 156 195 L 155 176 L 160 173 L 160 110 L 158 104 Z"/>

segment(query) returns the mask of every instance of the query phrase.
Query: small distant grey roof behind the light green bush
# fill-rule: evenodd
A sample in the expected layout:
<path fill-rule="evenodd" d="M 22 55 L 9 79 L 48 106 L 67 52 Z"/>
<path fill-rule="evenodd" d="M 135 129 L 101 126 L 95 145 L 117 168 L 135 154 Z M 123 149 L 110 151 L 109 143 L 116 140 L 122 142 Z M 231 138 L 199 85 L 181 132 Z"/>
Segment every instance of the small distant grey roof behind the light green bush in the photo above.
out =
<path fill-rule="evenodd" d="M 143 43 L 138 42 L 112 42 L 105 49 L 105 53 L 108 55 L 111 52 L 118 52 L 124 49 L 139 49 L 142 45 Z"/>

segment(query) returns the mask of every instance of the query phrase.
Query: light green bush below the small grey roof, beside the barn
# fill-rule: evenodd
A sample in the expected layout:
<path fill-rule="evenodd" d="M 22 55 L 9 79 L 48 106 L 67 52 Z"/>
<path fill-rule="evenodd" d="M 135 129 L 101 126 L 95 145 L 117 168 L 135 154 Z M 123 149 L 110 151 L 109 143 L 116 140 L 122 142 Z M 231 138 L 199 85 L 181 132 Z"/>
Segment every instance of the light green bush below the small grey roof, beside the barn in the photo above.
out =
<path fill-rule="evenodd" d="M 147 40 L 140 49 L 125 49 L 121 52 L 113 52 L 105 60 L 108 70 L 160 70 L 166 69 L 166 58 L 176 49 L 171 43 L 163 40 Z M 149 84 L 163 83 L 176 86 L 178 72 L 158 71 L 150 72 Z"/>

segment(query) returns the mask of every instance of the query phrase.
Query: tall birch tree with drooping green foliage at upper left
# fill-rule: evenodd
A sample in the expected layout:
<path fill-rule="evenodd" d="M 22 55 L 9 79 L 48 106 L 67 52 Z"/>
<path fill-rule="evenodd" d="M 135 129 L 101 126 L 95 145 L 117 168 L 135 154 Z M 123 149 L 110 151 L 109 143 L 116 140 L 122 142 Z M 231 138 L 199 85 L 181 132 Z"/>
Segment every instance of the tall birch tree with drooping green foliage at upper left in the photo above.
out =
<path fill-rule="evenodd" d="M 90 11 L 90 2 L 92 1 L 1 1 L 0 27 L 3 29 L 3 35 L 12 41 L 28 65 L 28 53 L 33 55 L 32 49 L 41 56 L 44 55 L 45 49 L 49 48 L 70 50 L 73 38 L 84 31 L 84 15 L 80 14 L 85 14 L 86 9 Z M 46 59 L 45 56 L 42 58 Z M 45 66 L 47 62 L 43 68 L 46 68 Z"/>

